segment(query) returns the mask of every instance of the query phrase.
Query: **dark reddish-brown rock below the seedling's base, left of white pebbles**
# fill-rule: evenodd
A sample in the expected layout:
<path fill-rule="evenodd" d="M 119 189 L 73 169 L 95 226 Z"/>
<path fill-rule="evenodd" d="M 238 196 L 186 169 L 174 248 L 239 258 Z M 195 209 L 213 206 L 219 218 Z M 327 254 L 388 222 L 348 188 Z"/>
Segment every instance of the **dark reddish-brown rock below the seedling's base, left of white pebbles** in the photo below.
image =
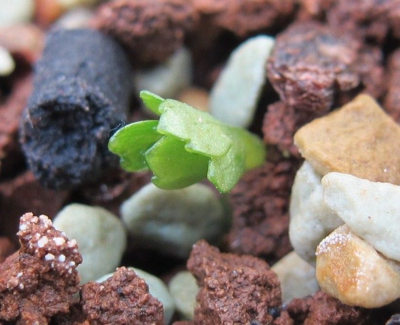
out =
<path fill-rule="evenodd" d="M 230 193 L 229 251 L 277 260 L 292 247 L 288 237 L 289 197 L 300 160 L 268 151 L 264 166 L 248 171 Z"/>

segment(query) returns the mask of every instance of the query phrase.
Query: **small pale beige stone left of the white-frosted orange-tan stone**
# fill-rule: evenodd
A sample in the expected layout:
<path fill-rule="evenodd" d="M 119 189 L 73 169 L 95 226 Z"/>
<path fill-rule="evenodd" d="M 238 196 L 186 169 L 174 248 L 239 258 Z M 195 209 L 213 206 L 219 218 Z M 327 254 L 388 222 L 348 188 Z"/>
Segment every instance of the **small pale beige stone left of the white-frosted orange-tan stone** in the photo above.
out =
<path fill-rule="evenodd" d="M 315 267 L 305 262 L 295 251 L 282 257 L 271 269 L 281 282 L 284 303 L 313 295 L 320 288 L 315 277 Z"/>

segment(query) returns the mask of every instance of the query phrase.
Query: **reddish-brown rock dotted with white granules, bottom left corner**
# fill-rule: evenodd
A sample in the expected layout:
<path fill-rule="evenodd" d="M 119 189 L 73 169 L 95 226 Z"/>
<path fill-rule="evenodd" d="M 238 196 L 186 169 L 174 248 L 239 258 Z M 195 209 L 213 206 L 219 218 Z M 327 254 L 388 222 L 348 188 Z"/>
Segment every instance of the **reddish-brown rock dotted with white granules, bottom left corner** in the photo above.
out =
<path fill-rule="evenodd" d="M 66 313 L 78 291 L 82 263 L 76 241 L 54 229 L 45 215 L 25 213 L 19 224 L 20 249 L 0 266 L 0 322 L 48 324 Z"/>

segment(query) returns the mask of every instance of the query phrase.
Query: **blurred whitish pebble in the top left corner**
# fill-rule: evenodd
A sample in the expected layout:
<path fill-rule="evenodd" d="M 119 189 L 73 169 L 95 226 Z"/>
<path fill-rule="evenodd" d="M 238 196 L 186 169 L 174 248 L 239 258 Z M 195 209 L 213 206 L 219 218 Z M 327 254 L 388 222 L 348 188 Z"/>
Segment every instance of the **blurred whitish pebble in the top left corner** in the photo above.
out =
<path fill-rule="evenodd" d="M 34 0 L 0 0 L 0 26 L 28 22 L 34 11 Z"/>

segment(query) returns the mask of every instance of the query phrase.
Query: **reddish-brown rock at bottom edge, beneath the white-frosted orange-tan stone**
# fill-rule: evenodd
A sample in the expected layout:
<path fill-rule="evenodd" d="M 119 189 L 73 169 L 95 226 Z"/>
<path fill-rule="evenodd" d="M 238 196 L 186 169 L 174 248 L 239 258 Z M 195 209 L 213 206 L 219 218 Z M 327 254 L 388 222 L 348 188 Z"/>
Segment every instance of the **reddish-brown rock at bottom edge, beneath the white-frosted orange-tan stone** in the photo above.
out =
<path fill-rule="evenodd" d="M 287 306 L 287 312 L 296 325 L 368 324 L 367 309 L 344 305 L 322 291 L 312 297 L 293 299 Z"/>

